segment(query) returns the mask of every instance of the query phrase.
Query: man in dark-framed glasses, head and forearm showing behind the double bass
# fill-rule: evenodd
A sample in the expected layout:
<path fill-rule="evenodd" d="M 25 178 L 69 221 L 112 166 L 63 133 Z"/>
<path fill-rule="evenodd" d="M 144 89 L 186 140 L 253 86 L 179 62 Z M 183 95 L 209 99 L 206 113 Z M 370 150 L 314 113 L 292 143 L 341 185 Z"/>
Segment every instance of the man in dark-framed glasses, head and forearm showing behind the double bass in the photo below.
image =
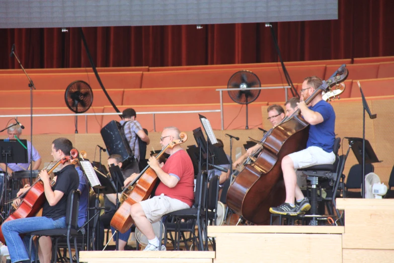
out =
<path fill-rule="evenodd" d="M 282 121 L 282 119 L 285 117 L 284 109 L 282 108 L 282 106 L 277 105 L 277 104 L 273 104 L 273 105 L 269 106 L 267 108 L 267 112 L 268 112 L 267 119 L 271 122 L 273 127 L 277 126 Z M 267 139 L 269 134 L 270 134 L 269 131 L 268 131 L 268 133 L 264 134 L 263 139 L 261 139 L 262 143 L 265 141 L 265 139 Z M 237 161 L 235 161 L 232 164 L 233 168 L 235 169 L 238 166 L 241 166 L 241 164 L 243 164 L 249 156 L 254 155 L 261 148 L 262 148 L 262 146 L 260 144 L 256 144 L 255 146 L 249 148 L 244 155 L 242 155 L 240 158 L 237 159 Z"/>

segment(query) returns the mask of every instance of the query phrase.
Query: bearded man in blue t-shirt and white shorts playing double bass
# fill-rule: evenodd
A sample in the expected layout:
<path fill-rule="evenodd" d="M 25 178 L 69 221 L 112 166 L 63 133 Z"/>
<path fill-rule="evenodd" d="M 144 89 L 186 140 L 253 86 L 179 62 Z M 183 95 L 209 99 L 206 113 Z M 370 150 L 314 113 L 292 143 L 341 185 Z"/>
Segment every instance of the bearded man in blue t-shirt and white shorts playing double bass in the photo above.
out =
<path fill-rule="evenodd" d="M 310 209 L 309 201 L 297 185 L 295 169 L 335 162 L 335 154 L 333 153 L 335 112 L 333 107 L 323 100 L 321 92 L 309 103 L 309 106 L 304 102 L 322 84 L 322 80 L 315 76 L 305 78 L 302 83 L 301 101 L 297 103 L 297 106 L 302 117 L 309 123 L 307 148 L 289 154 L 282 159 L 286 200 L 279 207 L 270 208 L 270 212 L 273 214 L 297 215 Z"/>

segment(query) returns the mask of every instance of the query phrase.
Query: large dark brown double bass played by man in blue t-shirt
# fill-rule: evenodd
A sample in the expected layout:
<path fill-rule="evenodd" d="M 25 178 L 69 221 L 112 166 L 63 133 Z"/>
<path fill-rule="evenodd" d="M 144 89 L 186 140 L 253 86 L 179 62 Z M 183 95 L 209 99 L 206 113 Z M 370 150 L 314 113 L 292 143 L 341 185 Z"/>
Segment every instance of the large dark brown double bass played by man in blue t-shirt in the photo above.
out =
<path fill-rule="evenodd" d="M 338 76 L 337 76 L 338 75 Z M 306 105 L 318 93 L 346 80 L 348 70 L 343 64 L 329 80 L 305 100 Z M 306 148 L 309 123 L 297 109 L 289 118 L 272 129 L 263 144 L 263 150 L 252 164 L 247 164 L 235 177 L 227 191 L 227 206 L 240 217 L 257 225 L 267 225 L 270 207 L 285 201 L 285 185 L 281 163 L 283 157 Z"/>

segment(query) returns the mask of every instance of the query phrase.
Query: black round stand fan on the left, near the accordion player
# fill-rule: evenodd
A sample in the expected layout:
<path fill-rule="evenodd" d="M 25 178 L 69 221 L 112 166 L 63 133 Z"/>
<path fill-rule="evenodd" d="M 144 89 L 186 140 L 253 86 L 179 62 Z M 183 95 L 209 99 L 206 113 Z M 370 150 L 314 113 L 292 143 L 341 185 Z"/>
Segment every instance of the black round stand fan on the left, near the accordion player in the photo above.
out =
<path fill-rule="evenodd" d="M 87 111 L 93 103 L 93 92 L 91 87 L 85 81 L 74 81 L 66 88 L 64 99 L 67 107 L 75 113 Z M 75 133 L 77 129 L 78 118 L 75 116 Z"/>

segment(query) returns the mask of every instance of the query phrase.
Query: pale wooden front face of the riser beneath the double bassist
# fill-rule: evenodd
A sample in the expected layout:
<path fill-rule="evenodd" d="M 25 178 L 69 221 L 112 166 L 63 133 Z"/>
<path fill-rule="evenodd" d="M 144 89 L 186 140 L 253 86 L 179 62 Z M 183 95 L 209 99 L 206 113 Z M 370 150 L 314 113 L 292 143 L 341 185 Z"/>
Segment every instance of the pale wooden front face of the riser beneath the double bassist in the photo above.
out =
<path fill-rule="evenodd" d="M 341 262 L 341 234 L 220 233 L 216 263 Z"/>

